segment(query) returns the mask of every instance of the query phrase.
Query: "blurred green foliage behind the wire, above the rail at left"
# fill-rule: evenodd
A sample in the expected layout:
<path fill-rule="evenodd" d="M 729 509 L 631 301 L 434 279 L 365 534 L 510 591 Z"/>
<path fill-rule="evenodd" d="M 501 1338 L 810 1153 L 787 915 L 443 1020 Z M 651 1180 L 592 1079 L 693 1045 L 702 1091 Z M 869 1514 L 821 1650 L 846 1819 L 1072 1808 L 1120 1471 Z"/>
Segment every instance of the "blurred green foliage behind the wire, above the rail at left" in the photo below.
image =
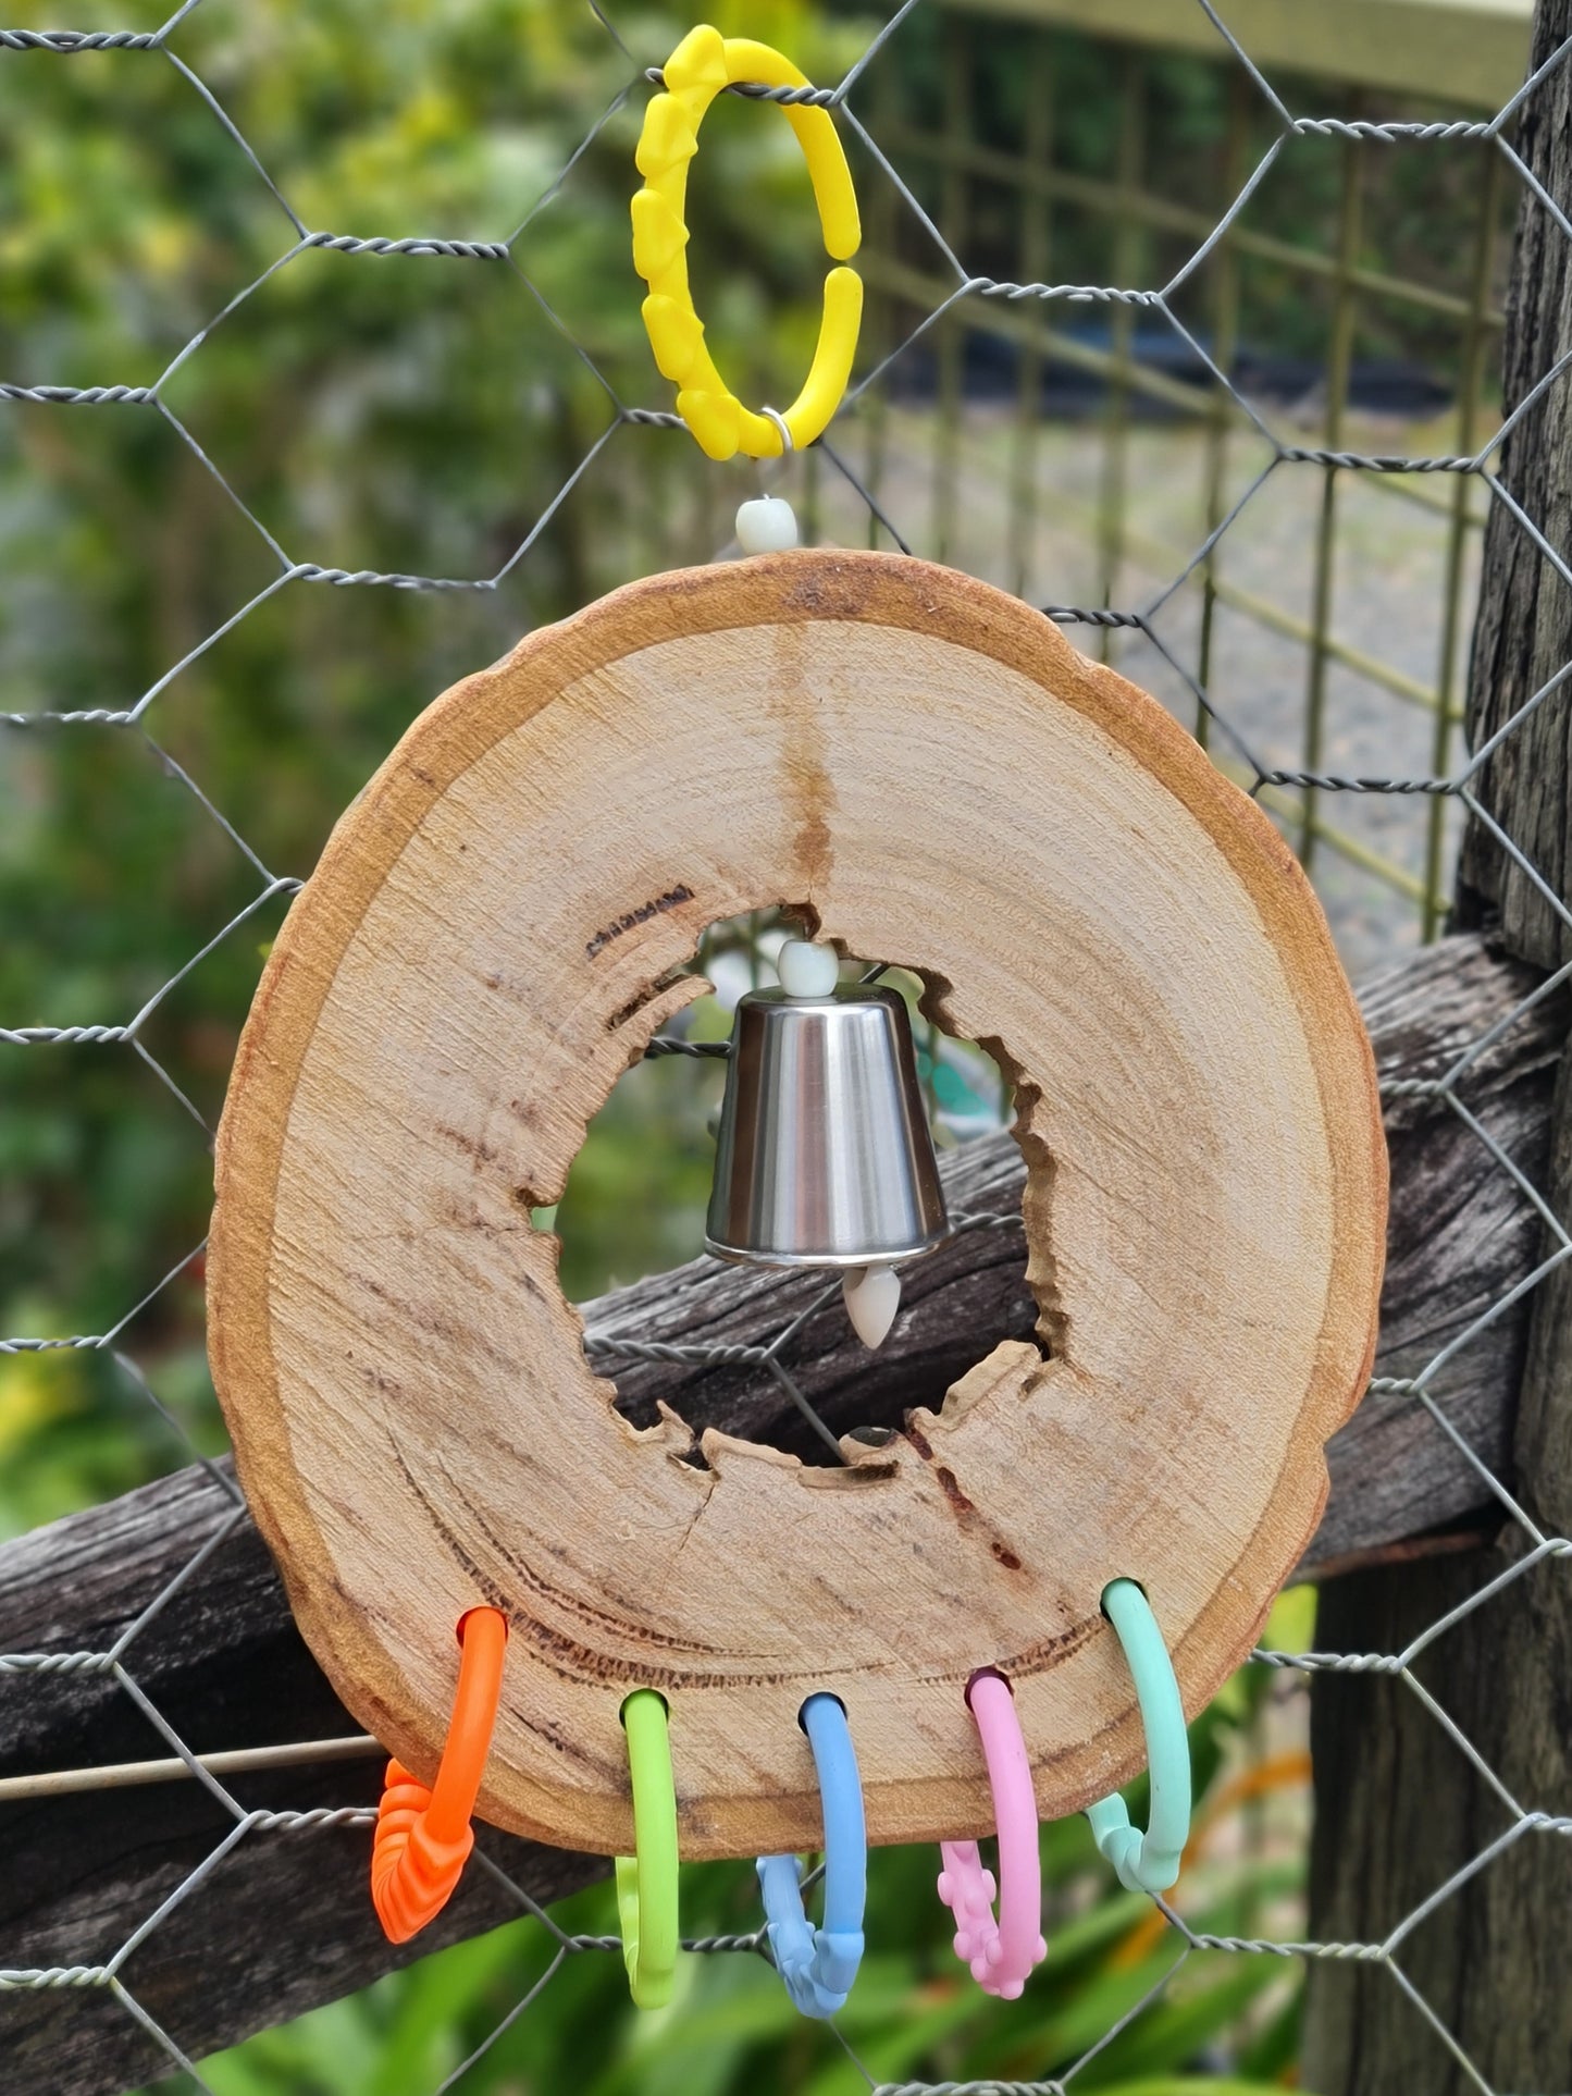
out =
<path fill-rule="evenodd" d="M 639 63 L 679 36 L 671 17 L 616 15 Z M 796 0 L 776 17 L 826 73 L 857 42 Z M 0 1010 L 21 1025 L 130 1019 L 258 895 L 226 824 L 270 872 L 308 874 L 444 685 L 614 583 L 708 558 L 717 503 L 746 493 L 742 467 L 700 474 L 685 436 L 625 428 L 551 509 L 614 419 L 576 346 L 623 400 L 667 405 L 629 252 L 641 96 L 558 187 L 635 75 L 587 8 L 212 0 L 174 48 L 306 226 L 499 241 L 528 224 L 514 262 L 310 249 L 258 285 L 296 228 L 176 67 L 107 52 L 0 69 L 0 371 L 151 384 L 195 342 L 163 390 L 193 442 L 147 407 L 13 402 L 0 421 L 6 706 L 126 708 L 184 662 L 147 713 L 155 744 L 0 727 Z M 807 356 L 822 256 L 776 111 L 717 111 L 692 222 L 721 358 L 744 390 L 780 394 Z M 478 581 L 537 530 L 495 591 L 291 581 L 212 639 L 277 583 L 281 553 Z M 2 1331 L 103 1333 L 199 1245 L 210 1157 L 184 1100 L 216 1119 L 283 910 L 275 897 L 237 926 L 149 1021 L 176 1090 L 128 1046 L 0 1052 Z M 690 1117 L 664 1128 L 677 1096 L 618 1102 L 585 1161 L 591 1276 L 660 1264 L 658 1228 L 620 1232 L 658 1216 L 673 1155 L 690 1159 L 675 1209 L 694 1211 L 702 1142 Z M 212 1398 L 189 1392 L 201 1268 L 130 1337 L 212 1438 Z M 103 1364 L 0 1362 L 0 1532 L 170 1465 L 170 1436 L 122 1385 Z"/>

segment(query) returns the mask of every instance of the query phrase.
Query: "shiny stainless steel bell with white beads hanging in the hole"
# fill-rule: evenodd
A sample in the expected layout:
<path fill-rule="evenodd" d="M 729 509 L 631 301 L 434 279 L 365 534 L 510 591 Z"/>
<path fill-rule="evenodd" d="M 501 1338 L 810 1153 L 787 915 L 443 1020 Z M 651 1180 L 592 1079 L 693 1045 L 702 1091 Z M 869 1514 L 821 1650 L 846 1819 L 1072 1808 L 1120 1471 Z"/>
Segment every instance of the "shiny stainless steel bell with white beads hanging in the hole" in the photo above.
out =
<path fill-rule="evenodd" d="M 838 987 L 836 968 L 830 947 L 792 939 L 782 987 L 738 1004 L 704 1245 L 843 1270 L 853 1323 L 878 1346 L 899 1304 L 887 1268 L 933 1251 L 949 1220 L 905 1004 Z"/>

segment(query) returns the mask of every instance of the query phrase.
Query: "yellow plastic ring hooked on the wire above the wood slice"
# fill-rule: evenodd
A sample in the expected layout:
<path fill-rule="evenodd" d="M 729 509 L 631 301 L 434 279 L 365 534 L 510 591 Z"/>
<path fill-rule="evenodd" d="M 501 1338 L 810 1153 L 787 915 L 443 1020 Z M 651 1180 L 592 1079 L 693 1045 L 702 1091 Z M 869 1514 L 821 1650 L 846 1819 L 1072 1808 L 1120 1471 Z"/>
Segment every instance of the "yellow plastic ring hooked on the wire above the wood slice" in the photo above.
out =
<path fill-rule="evenodd" d="M 633 268 L 650 285 L 643 325 L 664 377 L 677 386 L 677 413 L 711 459 L 742 451 L 750 459 L 778 459 L 786 449 L 769 415 L 755 415 L 727 388 L 704 348 L 704 323 L 687 287 L 687 161 L 698 153 L 698 126 L 721 92 L 740 80 L 765 88 L 805 88 L 807 78 L 769 44 L 721 36 L 708 23 L 690 29 L 664 65 L 667 90 L 643 115 L 633 155 L 643 189 L 633 199 Z M 824 247 L 845 262 L 861 243 L 851 168 L 828 109 L 784 111 L 813 182 Z M 820 344 L 807 384 L 782 413 L 792 444 L 811 444 L 830 425 L 851 377 L 861 325 L 861 277 L 832 268 L 824 279 Z"/>

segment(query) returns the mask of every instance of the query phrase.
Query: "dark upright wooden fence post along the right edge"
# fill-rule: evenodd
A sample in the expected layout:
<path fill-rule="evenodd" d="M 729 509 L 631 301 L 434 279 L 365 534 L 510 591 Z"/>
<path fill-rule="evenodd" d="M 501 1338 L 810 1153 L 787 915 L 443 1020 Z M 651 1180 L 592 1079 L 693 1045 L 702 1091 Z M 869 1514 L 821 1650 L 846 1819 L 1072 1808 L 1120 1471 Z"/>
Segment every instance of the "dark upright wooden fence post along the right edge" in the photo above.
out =
<path fill-rule="evenodd" d="M 1545 65 L 1568 36 L 1572 0 L 1538 0 L 1532 65 Z M 1515 147 L 1555 210 L 1524 187 L 1505 340 L 1509 413 L 1572 348 L 1572 241 L 1555 216 L 1572 205 L 1572 67 L 1538 84 Z M 1566 375 L 1513 428 L 1499 478 L 1509 501 L 1494 499 L 1484 545 L 1467 706 L 1476 750 L 1572 667 Z M 1543 970 L 1572 958 L 1572 931 L 1490 822 L 1555 897 L 1572 897 L 1568 704 L 1572 681 L 1551 690 L 1492 755 L 1478 794 L 1484 815 L 1469 815 L 1459 878 L 1459 922 L 1492 929 Z M 1555 1216 L 1572 1214 L 1566 1054 L 1538 1184 Z M 1553 1243 L 1547 1232 L 1543 1249 Z M 1436 1398 L 1444 1406 L 1444 1381 Z M 1572 1532 L 1572 1264 L 1532 1297 L 1505 1482 L 1545 1536 Z M 1524 1528 L 1507 1522 L 1484 1559 L 1429 1559 L 1335 1582 L 1323 1591 L 1316 1641 L 1329 1652 L 1400 1652 L 1528 1549 Z M 1417 1660 L 1415 1677 L 1444 1717 L 1390 1677 L 1327 1675 L 1314 1687 L 1312 1935 L 1388 1945 L 1392 1958 L 1312 1966 L 1304 2086 L 1318 2096 L 1566 2090 L 1572 1855 L 1564 1832 L 1522 1815 L 1572 1815 L 1572 1564 L 1551 1555 L 1528 1568 L 1448 1629 Z"/>

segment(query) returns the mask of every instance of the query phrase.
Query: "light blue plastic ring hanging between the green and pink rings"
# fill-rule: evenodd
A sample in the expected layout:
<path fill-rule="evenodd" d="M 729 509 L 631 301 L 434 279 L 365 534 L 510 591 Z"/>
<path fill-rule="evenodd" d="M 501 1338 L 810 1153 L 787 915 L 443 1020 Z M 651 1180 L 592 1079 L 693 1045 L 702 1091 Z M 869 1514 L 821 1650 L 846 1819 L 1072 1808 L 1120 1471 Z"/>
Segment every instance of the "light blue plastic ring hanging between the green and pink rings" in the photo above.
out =
<path fill-rule="evenodd" d="M 834 2016 L 847 2006 L 861 1964 L 861 1914 L 868 1897 L 868 1826 L 851 1727 L 838 1696 L 809 1696 L 803 1731 L 813 1748 L 824 1807 L 824 1926 L 803 1907 L 794 1855 L 759 1857 L 769 1953 L 786 1993 L 805 2016 Z"/>

